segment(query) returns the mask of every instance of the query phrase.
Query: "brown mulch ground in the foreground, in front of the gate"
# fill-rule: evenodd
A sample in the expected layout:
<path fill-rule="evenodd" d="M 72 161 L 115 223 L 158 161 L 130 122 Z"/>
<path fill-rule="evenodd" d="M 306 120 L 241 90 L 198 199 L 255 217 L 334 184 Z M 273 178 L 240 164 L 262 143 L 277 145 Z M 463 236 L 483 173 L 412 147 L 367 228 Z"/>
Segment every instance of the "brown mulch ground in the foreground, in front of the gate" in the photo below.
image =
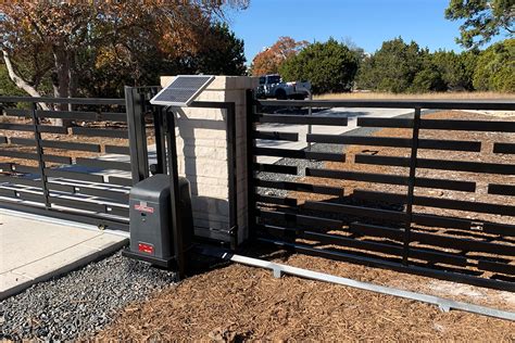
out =
<path fill-rule="evenodd" d="M 415 279 L 431 281 L 302 255 L 278 262 L 337 275 L 352 274 L 354 278 L 376 282 L 382 280 L 377 283 L 399 278 L 406 284 Z M 504 305 L 515 309 L 513 294 L 488 292 L 497 293 L 498 300 L 506 296 Z M 230 265 L 186 279 L 148 302 L 126 307 L 95 339 L 513 342 L 515 322 L 457 310 L 443 313 L 415 301 L 296 277 L 275 279 L 267 270 Z"/>

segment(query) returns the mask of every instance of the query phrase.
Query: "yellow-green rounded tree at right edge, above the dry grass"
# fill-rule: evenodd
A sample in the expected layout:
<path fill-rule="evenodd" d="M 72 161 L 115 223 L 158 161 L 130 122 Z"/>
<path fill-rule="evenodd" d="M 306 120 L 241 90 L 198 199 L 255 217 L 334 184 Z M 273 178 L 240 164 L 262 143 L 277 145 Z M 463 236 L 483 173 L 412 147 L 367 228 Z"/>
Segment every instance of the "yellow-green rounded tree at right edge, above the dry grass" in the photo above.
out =
<path fill-rule="evenodd" d="M 474 73 L 477 90 L 515 92 L 515 39 L 506 39 L 482 51 Z"/>

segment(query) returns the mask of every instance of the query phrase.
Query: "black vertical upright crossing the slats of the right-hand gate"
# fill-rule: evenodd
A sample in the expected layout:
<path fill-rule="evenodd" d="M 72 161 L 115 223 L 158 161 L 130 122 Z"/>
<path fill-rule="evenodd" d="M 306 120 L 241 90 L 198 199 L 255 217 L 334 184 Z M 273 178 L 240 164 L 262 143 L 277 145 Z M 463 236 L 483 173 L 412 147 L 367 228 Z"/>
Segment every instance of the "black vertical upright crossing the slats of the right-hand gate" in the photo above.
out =
<path fill-rule="evenodd" d="M 416 177 L 416 158 L 418 152 L 418 134 L 420 130 L 420 107 L 415 109 L 415 115 L 413 118 L 413 138 L 412 138 L 412 152 L 410 157 L 410 177 L 407 180 L 407 202 L 406 202 L 406 224 L 404 228 L 404 254 L 403 263 L 409 264 L 410 257 L 410 241 L 411 230 L 413 220 L 413 198 L 415 192 L 415 177 Z"/>

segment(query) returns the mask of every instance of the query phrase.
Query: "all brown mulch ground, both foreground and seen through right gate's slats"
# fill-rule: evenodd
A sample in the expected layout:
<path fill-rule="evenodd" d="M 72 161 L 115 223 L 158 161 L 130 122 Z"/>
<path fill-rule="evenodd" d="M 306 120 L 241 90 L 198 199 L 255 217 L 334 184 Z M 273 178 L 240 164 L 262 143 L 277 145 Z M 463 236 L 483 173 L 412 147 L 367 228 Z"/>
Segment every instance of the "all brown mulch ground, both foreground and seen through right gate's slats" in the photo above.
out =
<path fill-rule="evenodd" d="M 495 119 L 479 113 L 436 113 L 432 118 Z M 503 118 L 515 120 L 515 117 Z M 407 130 L 382 129 L 375 136 L 407 135 Z M 508 134 L 510 135 L 510 134 Z M 513 141 L 513 135 L 485 132 L 425 131 L 423 138 L 480 140 L 480 153 L 420 150 L 420 157 L 514 163 L 511 155 L 491 155 L 493 142 Z M 400 174 L 402 167 L 348 165 L 353 155 L 374 153 L 405 155 L 409 151 L 380 147 L 352 147 L 347 151 L 346 166 L 327 163 L 326 168 Z M 499 160 L 501 158 L 501 161 Z M 418 176 L 474 180 L 476 193 L 422 189 L 424 195 L 448 199 L 475 199 L 493 203 L 513 203 L 508 196 L 486 192 L 490 182 L 514 185 L 513 177 L 473 173 L 453 173 L 425 169 Z M 303 180 L 309 181 L 309 178 Z M 327 185 L 344 187 L 346 193 L 355 188 L 367 188 L 366 182 L 326 180 Z M 319 182 L 317 182 L 321 185 Z M 400 186 L 374 185 L 376 190 L 403 191 Z M 301 200 L 313 200 L 306 193 L 293 193 Z M 317 199 L 318 200 L 318 199 Z M 319 199 L 322 200 L 322 199 Z M 513 217 L 460 213 L 435 208 L 416 208 L 450 216 L 466 215 L 470 219 L 512 223 Z M 451 234 L 441 231 L 442 234 Z M 455 233 L 454 233 L 455 234 Z M 463 234 L 463 233 L 459 233 Z M 482 239 L 482 238 L 478 238 Z M 504 244 L 515 244 L 503 240 Z M 467 284 L 440 281 L 414 275 L 336 262 L 300 254 L 276 253 L 265 256 L 274 262 L 349 277 L 361 281 L 418 291 L 456 301 L 515 310 L 515 294 Z M 434 305 L 376 294 L 348 287 L 284 277 L 275 279 L 272 272 L 241 265 L 229 265 L 186 279 L 178 285 L 154 294 L 148 302 L 131 304 L 96 339 L 99 340 L 166 340 L 166 341 L 515 341 L 515 322 L 451 310 L 443 313 Z"/>

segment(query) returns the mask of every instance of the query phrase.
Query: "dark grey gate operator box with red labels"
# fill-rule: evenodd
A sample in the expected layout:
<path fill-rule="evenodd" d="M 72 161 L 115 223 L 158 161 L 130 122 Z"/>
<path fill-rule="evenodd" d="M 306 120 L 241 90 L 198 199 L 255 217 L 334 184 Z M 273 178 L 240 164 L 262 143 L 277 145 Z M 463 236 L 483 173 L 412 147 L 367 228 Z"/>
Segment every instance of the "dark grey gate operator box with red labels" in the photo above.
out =
<path fill-rule="evenodd" d="M 191 247 L 193 237 L 193 218 L 191 211 L 191 192 L 189 181 L 178 178 L 179 204 L 177 215 L 180 216 L 178 230 L 181 231 L 183 246 Z M 130 190 L 130 252 L 131 257 L 152 264 L 169 267 L 174 259 L 174 242 L 172 233 L 169 177 L 164 174 L 151 176 Z"/>

